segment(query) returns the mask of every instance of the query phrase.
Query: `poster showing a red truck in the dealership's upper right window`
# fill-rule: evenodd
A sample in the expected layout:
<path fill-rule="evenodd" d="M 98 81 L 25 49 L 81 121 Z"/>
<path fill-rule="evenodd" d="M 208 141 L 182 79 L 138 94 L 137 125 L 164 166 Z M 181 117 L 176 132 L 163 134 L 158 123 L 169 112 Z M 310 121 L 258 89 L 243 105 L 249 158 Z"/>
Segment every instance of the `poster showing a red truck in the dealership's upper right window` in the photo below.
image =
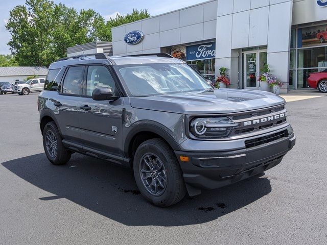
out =
<path fill-rule="evenodd" d="M 327 45 L 327 24 L 298 29 L 297 47 L 319 45 Z"/>

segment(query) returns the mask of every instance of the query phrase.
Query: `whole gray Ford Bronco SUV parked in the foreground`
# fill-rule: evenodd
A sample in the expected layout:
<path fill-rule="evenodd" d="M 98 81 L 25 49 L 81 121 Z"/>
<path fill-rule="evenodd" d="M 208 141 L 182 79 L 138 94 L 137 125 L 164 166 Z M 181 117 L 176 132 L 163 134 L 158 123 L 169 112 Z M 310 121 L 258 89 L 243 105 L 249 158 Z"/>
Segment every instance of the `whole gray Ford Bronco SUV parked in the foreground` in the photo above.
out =
<path fill-rule="evenodd" d="M 38 109 L 50 162 L 77 152 L 130 167 L 158 206 L 261 174 L 295 144 L 284 99 L 214 89 L 167 54 L 60 59 Z"/>

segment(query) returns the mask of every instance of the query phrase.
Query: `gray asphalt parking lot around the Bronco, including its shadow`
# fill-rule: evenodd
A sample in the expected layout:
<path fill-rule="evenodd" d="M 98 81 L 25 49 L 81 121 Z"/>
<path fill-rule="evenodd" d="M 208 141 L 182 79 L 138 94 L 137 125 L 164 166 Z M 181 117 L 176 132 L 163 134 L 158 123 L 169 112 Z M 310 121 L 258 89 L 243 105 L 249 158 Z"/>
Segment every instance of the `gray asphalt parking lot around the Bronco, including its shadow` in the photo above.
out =
<path fill-rule="evenodd" d="M 326 105 L 288 103 L 297 142 L 265 175 L 158 208 L 128 169 L 79 154 L 52 165 L 37 94 L 0 95 L 0 244 L 326 244 Z"/>

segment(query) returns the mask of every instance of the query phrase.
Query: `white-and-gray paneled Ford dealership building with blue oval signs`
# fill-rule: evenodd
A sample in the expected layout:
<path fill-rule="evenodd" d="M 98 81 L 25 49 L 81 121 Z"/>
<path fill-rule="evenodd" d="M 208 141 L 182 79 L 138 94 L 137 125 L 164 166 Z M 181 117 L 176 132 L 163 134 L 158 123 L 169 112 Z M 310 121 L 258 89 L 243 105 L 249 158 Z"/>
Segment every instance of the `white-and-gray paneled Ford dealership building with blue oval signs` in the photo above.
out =
<path fill-rule="evenodd" d="M 327 0 L 214 0 L 112 28 L 113 55 L 169 53 L 231 88 L 261 89 L 270 73 L 282 93 L 307 88 L 327 69 Z"/>

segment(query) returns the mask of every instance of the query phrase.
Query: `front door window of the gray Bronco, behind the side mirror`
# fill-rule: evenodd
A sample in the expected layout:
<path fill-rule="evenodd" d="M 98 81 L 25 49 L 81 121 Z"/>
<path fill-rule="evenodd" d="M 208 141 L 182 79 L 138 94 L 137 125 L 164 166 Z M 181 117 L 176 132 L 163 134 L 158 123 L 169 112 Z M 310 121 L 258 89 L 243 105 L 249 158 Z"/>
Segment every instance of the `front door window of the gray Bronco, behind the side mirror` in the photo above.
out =
<path fill-rule="evenodd" d="M 115 94 L 115 85 L 109 70 L 105 66 L 91 65 L 87 69 L 86 95 L 91 96 L 97 87 L 110 88 Z"/>

